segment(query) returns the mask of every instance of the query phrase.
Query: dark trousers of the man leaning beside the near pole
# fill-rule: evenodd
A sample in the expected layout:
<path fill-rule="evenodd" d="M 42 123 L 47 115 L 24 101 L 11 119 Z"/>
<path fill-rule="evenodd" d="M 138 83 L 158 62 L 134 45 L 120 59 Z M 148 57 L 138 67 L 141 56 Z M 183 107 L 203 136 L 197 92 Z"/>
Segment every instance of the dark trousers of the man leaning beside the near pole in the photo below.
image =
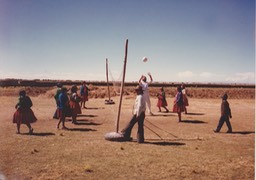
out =
<path fill-rule="evenodd" d="M 138 132 L 137 132 L 137 142 L 143 143 L 144 142 L 144 119 L 145 119 L 145 112 L 142 112 L 140 116 L 137 118 L 136 115 L 132 117 L 130 122 L 127 126 L 121 131 L 124 134 L 125 138 L 130 138 L 132 128 L 138 122 Z"/>

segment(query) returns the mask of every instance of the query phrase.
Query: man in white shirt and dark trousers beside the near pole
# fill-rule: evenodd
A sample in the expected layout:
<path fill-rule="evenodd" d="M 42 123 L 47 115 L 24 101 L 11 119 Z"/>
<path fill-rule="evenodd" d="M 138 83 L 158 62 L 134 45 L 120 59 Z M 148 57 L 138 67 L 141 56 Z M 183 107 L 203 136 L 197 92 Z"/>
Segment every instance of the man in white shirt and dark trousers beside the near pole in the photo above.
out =
<path fill-rule="evenodd" d="M 127 126 L 121 131 L 124 135 L 125 140 L 131 140 L 131 131 L 136 122 L 138 122 L 138 131 L 137 131 L 137 142 L 144 142 L 144 119 L 146 111 L 146 102 L 143 96 L 143 90 L 141 86 L 136 86 L 135 91 L 137 97 L 133 106 L 133 116 Z"/>

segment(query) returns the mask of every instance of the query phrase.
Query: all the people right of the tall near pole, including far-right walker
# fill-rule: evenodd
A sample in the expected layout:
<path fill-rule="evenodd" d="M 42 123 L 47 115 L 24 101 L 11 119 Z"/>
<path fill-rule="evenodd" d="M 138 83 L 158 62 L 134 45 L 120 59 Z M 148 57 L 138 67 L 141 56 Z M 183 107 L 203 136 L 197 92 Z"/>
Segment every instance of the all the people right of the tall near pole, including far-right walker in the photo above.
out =
<path fill-rule="evenodd" d="M 125 128 L 122 129 L 121 131 L 124 141 L 132 140 L 132 138 L 130 137 L 132 128 L 136 123 L 138 123 L 137 142 L 143 143 L 146 106 L 148 107 L 148 113 L 150 115 L 154 115 L 151 111 L 151 102 L 150 102 L 149 90 L 148 90 L 149 84 L 153 81 L 153 78 L 150 73 L 148 73 L 148 75 L 150 77 L 150 81 L 147 82 L 146 76 L 142 75 L 141 78 L 139 79 L 139 84 L 135 88 L 137 97 L 135 99 L 135 103 L 133 106 L 133 115 L 131 120 L 128 122 Z M 157 97 L 158 97 L 157 107 L 159 108 L 159 112 L 161 112 L 161 107 L 163 107 L 166 110 L 166 112 L 169 112 L 167 108 L 168 104 L 166 101 L 165 91 L 163 87 L 160 89 L 160 92 L 157 94 Z M 214 130 L 214 132 L 216 133 L 220 132 L 224 122 L 226 122 L 228 126 L 227 133 L 232 133 L 232 127 L 229 121 L 229 118 L 232 118 L 232 116 L 231 116 L 231 110 L 230 110 L 227 99 L 228 99 L 228 95 L 224 94 L 222 98 L 222 104 L 221 104 L 221 117 L 220 117 L 217 129 Z M 189 103 L 188 103 L 185 85 L 182 84 L 177 87 L 177 93 L 175 95 L 174 105 L 173 105 L 173 112 L 178 114 L 179 122 L 181 122 L 181 113 L 185 112 L 185 114 L 187 114 L 186 107 L 188 105 Z"/>

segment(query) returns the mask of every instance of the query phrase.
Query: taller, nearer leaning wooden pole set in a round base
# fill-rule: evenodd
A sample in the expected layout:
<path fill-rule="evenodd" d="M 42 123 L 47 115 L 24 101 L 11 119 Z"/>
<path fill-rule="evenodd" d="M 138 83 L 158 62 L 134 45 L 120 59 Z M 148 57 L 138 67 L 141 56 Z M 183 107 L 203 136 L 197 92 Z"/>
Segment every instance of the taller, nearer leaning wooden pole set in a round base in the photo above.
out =
<path fill-rule="evenodd" d="M 120 99 L 119 99 L 118 114 L 117 114 L 117 120 L 116 120 L 116 132 L 118 132 L 118 130 L 119 130 L 119 120 L 120 120 L 120 114 L 121 114 L 123 91 L 124 91 L 124 80 L 125 80 L 125 72 L 126 72 L 127 52 L 128 52 L 128 39 L 126 39 L 126 42 L 125 42 L 123 79 L 122 79 L 122 82 L 121 82 L 121 90 L 120 90 L 121 94 L 120 94 Z"/>

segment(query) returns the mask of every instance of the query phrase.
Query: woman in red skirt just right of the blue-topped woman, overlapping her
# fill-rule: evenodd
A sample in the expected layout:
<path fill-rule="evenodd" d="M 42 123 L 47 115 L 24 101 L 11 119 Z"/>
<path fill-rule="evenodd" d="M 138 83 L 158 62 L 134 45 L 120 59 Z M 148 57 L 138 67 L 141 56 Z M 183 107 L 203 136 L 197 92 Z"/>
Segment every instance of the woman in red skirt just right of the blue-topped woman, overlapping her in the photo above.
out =
<path fill-rule="evenodd" d="M 76 118 L 77 114 L 81 114 L 81 107 L 79 105 L 79 102 L 81 98 L 77 94 L 77 86 L 71 87 L 71 95 L 70 95 L 70 101 L 69 105 L 72 111 L 72 123 L 76 124 Z"/>

